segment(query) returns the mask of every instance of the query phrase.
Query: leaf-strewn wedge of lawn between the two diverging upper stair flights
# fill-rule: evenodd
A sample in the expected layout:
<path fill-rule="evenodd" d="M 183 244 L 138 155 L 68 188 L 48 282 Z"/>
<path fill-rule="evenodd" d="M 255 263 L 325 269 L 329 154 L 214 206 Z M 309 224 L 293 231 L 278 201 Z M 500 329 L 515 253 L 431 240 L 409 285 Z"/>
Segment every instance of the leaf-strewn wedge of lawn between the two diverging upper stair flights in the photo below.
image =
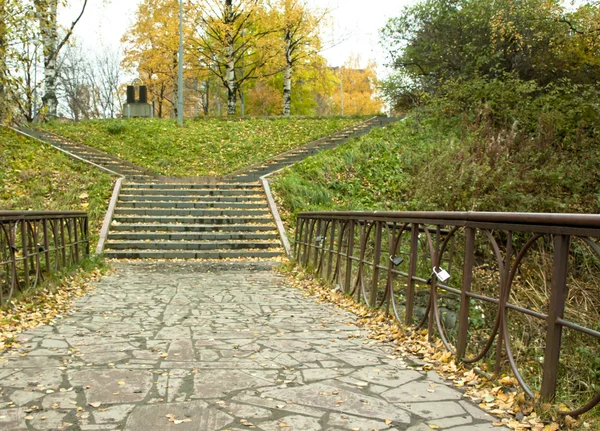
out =
<path fill-rule="evenodd" d="M 51 123 L 66 138 L 168 176 L 224 175 L 345 129 L 363 118 L 99 120 Z"/>

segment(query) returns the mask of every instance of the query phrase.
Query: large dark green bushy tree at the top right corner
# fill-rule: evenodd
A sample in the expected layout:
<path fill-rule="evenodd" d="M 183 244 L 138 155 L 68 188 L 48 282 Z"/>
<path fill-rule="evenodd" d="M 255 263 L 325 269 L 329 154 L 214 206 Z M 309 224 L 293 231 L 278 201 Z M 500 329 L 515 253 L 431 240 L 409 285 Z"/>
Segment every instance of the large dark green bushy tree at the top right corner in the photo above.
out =
<path fill-rule="evenodd" d="M 394 81 L 409 84 L 400 93 L 508 75 L 542 87 L 589 84 L 600 80 L 599 17 L 597 6 L 571 12 L 560 0 L 424 0 L 389 20 L 382 44 Z M 398 94 L 388 84 L 386 93 Z"/>

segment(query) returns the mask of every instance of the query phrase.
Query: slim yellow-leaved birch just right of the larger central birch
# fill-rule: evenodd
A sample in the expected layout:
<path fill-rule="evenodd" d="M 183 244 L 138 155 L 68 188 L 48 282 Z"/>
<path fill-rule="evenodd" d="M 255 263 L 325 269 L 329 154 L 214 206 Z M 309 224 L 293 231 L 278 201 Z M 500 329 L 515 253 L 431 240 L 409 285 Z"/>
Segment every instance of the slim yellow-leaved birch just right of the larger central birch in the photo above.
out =
<path fill-rule="evenodd" d="M 301 63 L 310 63 L 321 48 L 319 27 L 328 11 L 313 12 L 303 0 L 279 0 L 277 4 L 284 54 L 283 115 L 290 115 L 292 73 Z"/>

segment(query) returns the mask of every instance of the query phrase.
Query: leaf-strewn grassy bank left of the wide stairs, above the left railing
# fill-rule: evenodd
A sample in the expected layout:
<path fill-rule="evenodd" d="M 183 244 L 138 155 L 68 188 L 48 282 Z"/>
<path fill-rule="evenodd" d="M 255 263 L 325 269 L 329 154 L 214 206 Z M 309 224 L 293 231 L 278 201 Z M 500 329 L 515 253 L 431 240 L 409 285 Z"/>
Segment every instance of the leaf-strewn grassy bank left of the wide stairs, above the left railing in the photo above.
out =
<path fill-rule="evenodd" d="M 0 128 L 0 209 L 87 211 L 93 243 L 112 187 L 109 175 Z"/>

